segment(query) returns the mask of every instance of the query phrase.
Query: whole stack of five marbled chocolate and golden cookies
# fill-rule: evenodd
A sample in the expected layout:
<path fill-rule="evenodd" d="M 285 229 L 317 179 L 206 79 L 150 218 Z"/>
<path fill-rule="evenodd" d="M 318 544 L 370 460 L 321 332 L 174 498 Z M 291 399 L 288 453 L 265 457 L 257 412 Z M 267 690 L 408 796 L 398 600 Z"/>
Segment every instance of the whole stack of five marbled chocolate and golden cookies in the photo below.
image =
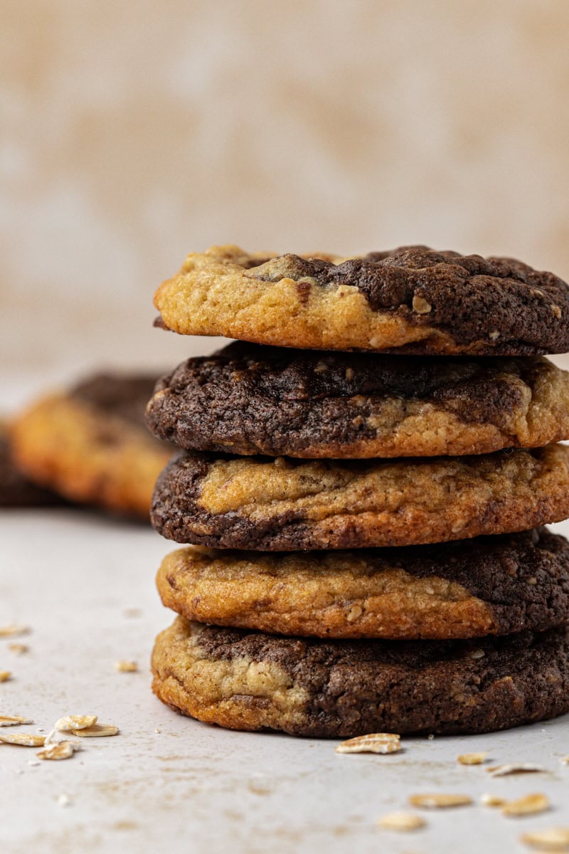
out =
<path fill-rule="evenodd" d="M 481 733 L 569 711 L 569 287 L 425 247 L 191 254 L 159 325 L 239 339 L 148 404 L 180 615 L 154 692 L 224 727 Z M 259 346 L 260 345 L 260 346 Z M 200 548 L 195 548 L 199 546 Z"/>

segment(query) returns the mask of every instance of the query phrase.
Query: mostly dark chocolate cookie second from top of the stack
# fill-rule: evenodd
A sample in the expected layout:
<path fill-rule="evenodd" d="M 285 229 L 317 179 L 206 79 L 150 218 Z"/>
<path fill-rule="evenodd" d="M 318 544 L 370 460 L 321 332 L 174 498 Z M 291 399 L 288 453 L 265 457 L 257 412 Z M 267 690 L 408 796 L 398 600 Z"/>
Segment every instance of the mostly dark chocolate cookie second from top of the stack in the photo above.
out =
<path fill-rule="evenodd" d="M 569 373 L 545 359 L 315 353 L 237 342 L 157 384 L 156 436 L 300 458 L 491 453 L 569 436 Z"/>

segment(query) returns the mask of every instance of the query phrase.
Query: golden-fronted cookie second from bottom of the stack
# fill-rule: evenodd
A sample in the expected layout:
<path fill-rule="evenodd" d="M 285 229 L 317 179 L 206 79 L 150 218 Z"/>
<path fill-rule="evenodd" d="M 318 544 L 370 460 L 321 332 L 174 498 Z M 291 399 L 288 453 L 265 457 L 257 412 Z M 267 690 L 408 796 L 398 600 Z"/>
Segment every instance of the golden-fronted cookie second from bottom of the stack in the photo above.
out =
<path fill-rule="evenodd" d="M 282 635 L 415 640 L 569 623 L 569 543 L 546 529 L 356 552 L 168 554 L 163 604 Z"/>

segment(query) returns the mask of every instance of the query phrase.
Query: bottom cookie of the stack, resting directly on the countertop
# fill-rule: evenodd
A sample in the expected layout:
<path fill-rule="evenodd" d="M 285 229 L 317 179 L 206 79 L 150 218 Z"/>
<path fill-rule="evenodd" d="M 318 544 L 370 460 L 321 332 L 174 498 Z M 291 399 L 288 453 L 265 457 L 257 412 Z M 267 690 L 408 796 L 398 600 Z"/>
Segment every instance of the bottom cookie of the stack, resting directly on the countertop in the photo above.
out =
<path fill-rule="evenodd" d="M 313 640 L 189 623 L 156 639 L 154 693 L 230 729 L 467 734 L 569 711 L 566 629 L 453 641 Z"/>

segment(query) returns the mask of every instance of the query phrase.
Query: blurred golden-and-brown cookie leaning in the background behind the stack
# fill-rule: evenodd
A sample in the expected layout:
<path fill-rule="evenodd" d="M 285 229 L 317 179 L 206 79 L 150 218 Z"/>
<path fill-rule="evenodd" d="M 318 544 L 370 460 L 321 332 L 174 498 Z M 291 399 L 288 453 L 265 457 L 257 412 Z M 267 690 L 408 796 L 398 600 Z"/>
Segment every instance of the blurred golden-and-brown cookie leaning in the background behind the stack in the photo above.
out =
<path fill-rule="evenodd" d="M 13 427 L 22 471 L 68 500 L 148 518 L 171 447 L 150 436 L 154 377 L 101 374 L 36 403 Z"/>

